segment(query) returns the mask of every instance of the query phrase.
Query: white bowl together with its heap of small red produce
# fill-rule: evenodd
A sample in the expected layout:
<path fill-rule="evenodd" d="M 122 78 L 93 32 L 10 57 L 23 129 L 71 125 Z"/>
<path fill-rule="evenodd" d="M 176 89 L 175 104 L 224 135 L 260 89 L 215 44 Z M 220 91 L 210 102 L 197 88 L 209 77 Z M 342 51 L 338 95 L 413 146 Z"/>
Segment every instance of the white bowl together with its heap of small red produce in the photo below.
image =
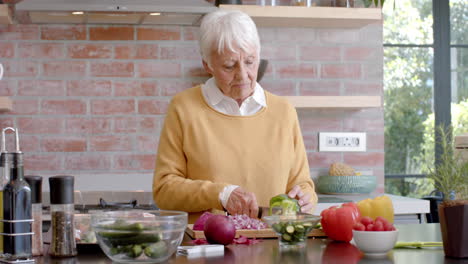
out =
<path fill-rule="evenodd" d="M 354 244 L 365 255 L 385 256 L 398 240 L 398 230 L 383 217 L 363 217 L 353 228 Z"/>

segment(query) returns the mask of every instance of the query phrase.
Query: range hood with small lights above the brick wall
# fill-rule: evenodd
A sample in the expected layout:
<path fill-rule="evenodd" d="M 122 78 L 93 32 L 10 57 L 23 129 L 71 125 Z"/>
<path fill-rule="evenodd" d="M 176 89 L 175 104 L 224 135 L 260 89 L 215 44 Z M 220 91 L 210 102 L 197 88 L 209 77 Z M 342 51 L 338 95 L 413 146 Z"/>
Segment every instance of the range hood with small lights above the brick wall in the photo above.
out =
<path fill-rule="evenodd" d="M 205 0 L 23 0 L 31 23 L 195 25 L 217 7 Z M 23 21 L 24 22 L 24 21 Z"/>

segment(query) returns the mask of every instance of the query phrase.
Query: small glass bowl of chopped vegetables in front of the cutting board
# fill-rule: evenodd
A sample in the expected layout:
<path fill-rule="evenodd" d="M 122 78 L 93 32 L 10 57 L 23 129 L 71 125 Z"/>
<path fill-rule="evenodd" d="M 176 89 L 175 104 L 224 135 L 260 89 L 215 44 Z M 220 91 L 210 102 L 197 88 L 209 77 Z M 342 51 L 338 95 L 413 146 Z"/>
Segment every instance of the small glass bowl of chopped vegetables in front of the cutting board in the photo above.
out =
<path fill-rule="evenodd" d="M 264 216 L 268 226 L 278 235 L 282 248 L 305 247 L 307 235 L 320 221 L 320 216 L 310 214 Z"/>

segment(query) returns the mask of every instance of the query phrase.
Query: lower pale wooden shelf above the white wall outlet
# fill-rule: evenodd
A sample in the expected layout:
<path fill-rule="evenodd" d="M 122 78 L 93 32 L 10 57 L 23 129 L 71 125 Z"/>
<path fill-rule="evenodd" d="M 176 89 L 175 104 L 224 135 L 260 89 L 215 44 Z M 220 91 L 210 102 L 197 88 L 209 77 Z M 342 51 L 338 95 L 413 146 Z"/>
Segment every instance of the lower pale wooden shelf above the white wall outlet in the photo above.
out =
<path fill-rule="evenodd" d="M 381 107 L 380 96 L 286 96 L 296 108 Z"/>

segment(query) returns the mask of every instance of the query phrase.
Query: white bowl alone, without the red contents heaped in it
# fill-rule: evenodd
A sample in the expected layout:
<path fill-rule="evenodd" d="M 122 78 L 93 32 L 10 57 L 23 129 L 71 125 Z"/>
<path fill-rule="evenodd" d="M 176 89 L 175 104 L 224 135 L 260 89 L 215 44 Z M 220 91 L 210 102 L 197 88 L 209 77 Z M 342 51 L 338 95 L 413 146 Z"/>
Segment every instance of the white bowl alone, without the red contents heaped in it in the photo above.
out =
<path fill-rule="evenodd" d="M 393 249 L 398 239 L 395 231 L 356 231 L 353 230 L 356 246 L 368 256 L 384 256 Z"/>

